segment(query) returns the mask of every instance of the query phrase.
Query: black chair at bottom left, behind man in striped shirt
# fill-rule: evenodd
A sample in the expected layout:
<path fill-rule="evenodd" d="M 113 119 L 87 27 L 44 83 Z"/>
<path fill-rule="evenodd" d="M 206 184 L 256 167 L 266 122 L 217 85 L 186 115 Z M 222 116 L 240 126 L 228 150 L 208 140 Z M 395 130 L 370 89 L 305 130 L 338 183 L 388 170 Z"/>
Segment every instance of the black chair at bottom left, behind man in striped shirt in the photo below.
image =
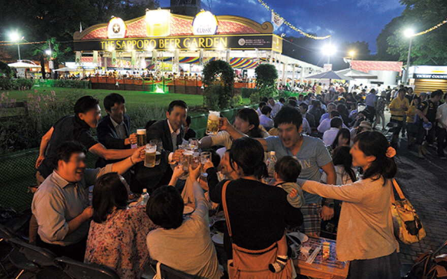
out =
<path fill-rule="evenodd" d="M 54 260 L 56 255 L 51 251 L 30 245 L 19 238 L 11 238 L 9 242 L 14 246 L 14 250 L 9 256 L 11 263 L 21 269 L 19 275 L 24 271 L 28 271 L 35 274 L 36 279 L 44 278 L 69 278 L 62 270 L 55 264 Z"/>

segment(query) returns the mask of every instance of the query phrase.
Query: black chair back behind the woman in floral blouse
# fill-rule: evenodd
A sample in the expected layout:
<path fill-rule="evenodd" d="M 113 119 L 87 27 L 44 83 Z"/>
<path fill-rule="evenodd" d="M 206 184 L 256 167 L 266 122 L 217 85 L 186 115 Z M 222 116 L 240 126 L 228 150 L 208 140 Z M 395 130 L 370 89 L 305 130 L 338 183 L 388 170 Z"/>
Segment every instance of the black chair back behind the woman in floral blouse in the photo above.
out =
<path fill-rule="evenodd" d="M 73 279 L 119 279 L 116 271 L 107 266 L 82 263 L 68 257 L 56 258 L 55 263 Z"/>

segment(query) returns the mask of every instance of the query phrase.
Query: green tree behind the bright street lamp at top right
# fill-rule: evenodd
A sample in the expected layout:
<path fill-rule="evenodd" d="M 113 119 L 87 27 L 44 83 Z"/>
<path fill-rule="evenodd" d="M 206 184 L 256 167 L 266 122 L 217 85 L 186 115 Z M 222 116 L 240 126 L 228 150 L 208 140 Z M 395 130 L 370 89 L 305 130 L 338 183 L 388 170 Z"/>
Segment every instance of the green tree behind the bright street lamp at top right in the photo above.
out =
<path fill-rule="evenodd" d="M 441 0 L 400 0 L 406 6 L 402 16 L 393 24 L 391 36 L 387 38 L 387 52 L 399 55 L 400 61 L 406 61 L 409 39 L 404 36 L 406 28 L 415 33 L 435 26 L 447 18 L 447 2 Z M 447 63 L 447 24 L 421 36 L 412 38 L 411 64 Z"/>

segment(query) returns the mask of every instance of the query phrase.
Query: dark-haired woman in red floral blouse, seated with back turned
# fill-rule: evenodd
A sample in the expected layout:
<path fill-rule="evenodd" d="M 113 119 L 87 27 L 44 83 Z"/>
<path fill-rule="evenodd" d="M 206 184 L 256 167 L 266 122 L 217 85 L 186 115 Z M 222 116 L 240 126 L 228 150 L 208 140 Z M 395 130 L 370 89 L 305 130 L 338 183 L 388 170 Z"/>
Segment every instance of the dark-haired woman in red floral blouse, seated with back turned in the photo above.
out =
<path fill-rule="evenodd" d="M 117 173 L 100 177 L 93 188 L 93 220 L 85 262 L 113 268 L 120 278 L 140 278 L 148 259 L 146 235 L 156 226 L 145 206 L 127 207 L 129 186 Z"/>

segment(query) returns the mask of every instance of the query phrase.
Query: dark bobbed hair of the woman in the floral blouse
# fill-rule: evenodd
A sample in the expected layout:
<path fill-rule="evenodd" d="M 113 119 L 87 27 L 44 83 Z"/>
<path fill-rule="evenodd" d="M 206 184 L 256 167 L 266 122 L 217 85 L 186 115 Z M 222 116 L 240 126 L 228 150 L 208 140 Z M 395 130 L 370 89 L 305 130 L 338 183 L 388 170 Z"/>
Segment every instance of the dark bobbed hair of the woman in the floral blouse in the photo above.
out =
<path fill-rule="evenodd" d="M 94 183 L 93 198 L 93 221 L 102 223 L 107 216 L 113 212 L 113 208 L 124 209 L 127 207 L 129 193 L 122 183 L 118 173 L 109 172 L 102 175 Z"/>

